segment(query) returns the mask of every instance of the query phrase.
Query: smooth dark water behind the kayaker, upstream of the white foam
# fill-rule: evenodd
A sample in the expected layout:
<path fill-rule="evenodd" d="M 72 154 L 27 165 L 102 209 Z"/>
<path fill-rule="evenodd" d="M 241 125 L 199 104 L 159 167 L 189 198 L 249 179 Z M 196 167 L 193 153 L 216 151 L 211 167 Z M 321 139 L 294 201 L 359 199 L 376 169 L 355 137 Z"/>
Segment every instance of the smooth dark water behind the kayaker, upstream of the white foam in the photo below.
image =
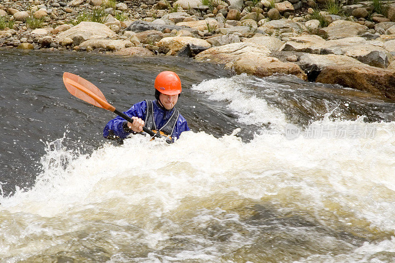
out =
<path fill-rule="evenodd" d="M 102 131 L 114 113 L 87 105 L 68 93 L 62 75 L 80 75 L 101 89 L 120 111 L 154 98 L 154 80 L 171 70 L 182 79 L 177 107 L 191 129 L 216 136 L 230 133 L 232 113 L 190 91 L 203 79 L 230 76 L 220 67 L 177 58 L 118 58 L 89 53 L 0 51 L 0 174 L 5 193 L 34 183 L 44 143 L 66 133 L 69 148 L 81 152 L 103 142 Z M 195 108 L 192 108 L 192 107 Z M 42 142 L 43 141 L 43 142 Z"/>

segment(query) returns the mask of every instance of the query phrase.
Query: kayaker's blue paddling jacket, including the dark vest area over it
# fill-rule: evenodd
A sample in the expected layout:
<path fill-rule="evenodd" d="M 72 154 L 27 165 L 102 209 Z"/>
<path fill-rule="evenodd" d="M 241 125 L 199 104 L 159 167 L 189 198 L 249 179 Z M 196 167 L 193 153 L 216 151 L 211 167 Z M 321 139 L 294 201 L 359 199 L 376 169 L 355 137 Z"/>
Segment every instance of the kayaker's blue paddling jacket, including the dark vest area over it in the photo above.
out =
<path fill-rule="evenodd" d="M 175 109 L 167 111 L 160 107 L 157 100 L 144 100 L 134 104 L 123 112 L 130 117 L 138 117 L 145 121 L 144 126 L 157 131 L 163 131 L 171 138 L 179 138 L 183 131 L 191 130 L 186 119 Z M 110 120 L 104 127 L 103 136 L 107 139 L 125 139 L 133 131 L 127 127 L 127 121 L 121 117 Z"/>

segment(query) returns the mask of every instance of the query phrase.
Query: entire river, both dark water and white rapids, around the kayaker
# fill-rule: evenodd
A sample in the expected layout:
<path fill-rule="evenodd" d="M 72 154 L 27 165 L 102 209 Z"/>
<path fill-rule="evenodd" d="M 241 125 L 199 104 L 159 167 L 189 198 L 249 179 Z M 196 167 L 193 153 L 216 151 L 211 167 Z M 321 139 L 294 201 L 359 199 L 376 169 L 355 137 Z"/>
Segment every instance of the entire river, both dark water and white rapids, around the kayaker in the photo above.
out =
<path fill-rule="evenodd" d="M 180 75 L 191 132 L 102 138 Z M 0 51 L 0 262 L 394 262 L 395 103 L 191 60 Z"/>

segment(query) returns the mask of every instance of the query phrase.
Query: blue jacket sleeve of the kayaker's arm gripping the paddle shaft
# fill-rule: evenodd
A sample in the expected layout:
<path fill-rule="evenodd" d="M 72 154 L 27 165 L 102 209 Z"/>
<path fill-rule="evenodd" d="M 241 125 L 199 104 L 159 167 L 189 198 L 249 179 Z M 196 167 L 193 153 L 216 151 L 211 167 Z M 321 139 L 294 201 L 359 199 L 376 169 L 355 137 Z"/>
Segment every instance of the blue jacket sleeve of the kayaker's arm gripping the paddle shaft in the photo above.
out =
<path fill-rule="evenodd" d="M 136 103 L 133 105 L 129 110 L 125 113 L 130 117 L 139 117 L 145 120 L 147 111 L 147 103 L 145 101 Z M 124 127 L 126 126 L 127 121 L 124 120 L 122 117 L 116 117 L 115 119 L 110 120 L 107 125 L 104 127 L 103 136 L 107 139 L 125 139 L 131 131 L 125 130 Z"/>

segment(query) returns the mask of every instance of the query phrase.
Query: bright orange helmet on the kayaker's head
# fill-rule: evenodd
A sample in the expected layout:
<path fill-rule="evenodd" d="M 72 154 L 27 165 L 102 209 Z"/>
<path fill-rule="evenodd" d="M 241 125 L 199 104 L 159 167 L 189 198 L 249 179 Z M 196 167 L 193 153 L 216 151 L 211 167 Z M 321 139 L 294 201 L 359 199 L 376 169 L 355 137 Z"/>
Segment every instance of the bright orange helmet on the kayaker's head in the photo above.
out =
<path fill-rule="evenodd" d="M 163 71 L 155 78 L 155 88 L 166 95 L 181 93 L 180 77 L 172 71 Z"/>

